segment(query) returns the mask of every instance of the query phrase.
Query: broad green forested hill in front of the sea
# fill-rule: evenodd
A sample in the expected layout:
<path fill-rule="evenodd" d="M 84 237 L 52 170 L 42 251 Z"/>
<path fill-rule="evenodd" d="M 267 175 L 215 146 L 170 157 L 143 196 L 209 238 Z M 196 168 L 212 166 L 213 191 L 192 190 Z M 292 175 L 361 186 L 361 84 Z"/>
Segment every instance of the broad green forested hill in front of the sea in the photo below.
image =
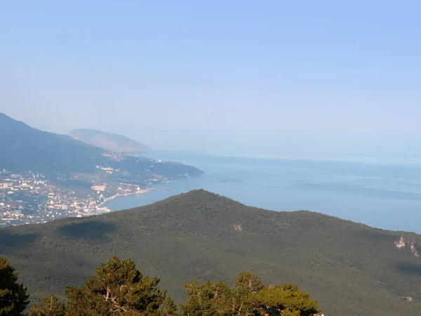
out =
<path fill-rule="evenodd" d="M 111 256 L 159 276 L 176 300 L 192 278 L 241 271 L 293 282 L 326 315 L 420 315 L 421 236 L 309 211 L 276 212 L 195 190 L 152 205 L 0 230 L 0 256 L 32 297 L 81 284 Z"/>

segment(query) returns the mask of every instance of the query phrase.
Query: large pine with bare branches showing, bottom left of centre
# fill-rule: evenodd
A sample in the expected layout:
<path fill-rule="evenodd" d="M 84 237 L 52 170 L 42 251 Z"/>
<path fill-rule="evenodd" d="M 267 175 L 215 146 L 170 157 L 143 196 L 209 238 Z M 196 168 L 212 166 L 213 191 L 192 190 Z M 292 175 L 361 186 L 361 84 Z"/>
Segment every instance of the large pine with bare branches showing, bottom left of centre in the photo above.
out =
<path fill-rule="evenodd" d="M 166 301 L 166 292 L 160 291 L 158 284 L 158 278 L 142 275 L 132 260 L 113 257 L 82 287 L 67 287 L 66 315 L 171 315 L 161 304 L 174 308 L 174 303 Z"/>

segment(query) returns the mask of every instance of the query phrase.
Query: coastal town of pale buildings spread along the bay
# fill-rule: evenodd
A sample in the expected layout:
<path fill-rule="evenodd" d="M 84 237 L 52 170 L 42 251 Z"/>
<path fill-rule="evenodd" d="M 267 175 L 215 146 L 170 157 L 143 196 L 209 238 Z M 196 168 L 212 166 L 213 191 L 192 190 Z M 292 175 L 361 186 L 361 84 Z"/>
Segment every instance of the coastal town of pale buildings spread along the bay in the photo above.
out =
<path fill-rule="evenodd" d="M 108 166 L 97 166 L 97 169 L 106 175 L 119 171 Z M 78 175 L 54 173 L 46 176 L 38 171 L 13 173 L 0 169 L 0 228 L 107 213 L 110 210 L 105 203 L 110 199 L 146 193 L 154 190 L 153 183 L 169 182 L 151 173 L 142 183 L 118 183 L 102 177 L 83 181 L 82 188 L 67 185 L 78 183 L 79 178 Z"/>

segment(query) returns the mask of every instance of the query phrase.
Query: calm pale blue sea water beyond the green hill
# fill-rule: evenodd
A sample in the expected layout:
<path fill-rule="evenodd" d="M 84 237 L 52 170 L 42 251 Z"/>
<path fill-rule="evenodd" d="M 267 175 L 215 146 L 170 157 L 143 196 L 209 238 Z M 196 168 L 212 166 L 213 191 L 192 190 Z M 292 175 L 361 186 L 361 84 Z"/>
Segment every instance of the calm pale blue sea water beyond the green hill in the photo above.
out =
<path fill-rule="evenodd" d="M 375 228 L 421 233 L 421 165 L 225 157 L 151 151 L 155 159 L 184 162 L 202 176 L 157 185 L 145 195 L 119 197 L 114 211 L 205 189 L 243 204 L 275 211 L 309 210 Z"/>

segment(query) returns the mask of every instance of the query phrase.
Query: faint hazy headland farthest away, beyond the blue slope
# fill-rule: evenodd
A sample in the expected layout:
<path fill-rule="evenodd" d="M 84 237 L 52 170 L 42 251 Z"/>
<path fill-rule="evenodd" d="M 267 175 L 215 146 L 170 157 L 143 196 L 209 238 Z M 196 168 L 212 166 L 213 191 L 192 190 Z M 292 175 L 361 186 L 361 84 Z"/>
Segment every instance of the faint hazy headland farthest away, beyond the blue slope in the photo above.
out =
<path fill-rule="evenodd" d="M 126 136 L 105 133 L 95 129 L 74 129 L 69 132 L 69 136 L 110 152 L 141 152 L 151 149 L 148 145 L 139 143 Z"/>

